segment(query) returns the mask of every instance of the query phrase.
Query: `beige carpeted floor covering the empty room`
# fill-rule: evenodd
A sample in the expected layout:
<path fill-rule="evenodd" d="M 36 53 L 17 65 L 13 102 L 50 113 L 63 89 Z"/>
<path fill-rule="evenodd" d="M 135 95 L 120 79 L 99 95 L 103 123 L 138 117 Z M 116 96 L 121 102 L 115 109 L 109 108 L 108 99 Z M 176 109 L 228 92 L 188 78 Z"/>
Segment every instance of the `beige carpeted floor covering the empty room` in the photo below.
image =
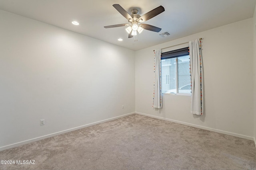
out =
<path fill-rule="evenodd" d="M 256 170 L 253 141 L 138 114 L 4 150 L 0 159 L 15 160 L 1 170 Z"/>

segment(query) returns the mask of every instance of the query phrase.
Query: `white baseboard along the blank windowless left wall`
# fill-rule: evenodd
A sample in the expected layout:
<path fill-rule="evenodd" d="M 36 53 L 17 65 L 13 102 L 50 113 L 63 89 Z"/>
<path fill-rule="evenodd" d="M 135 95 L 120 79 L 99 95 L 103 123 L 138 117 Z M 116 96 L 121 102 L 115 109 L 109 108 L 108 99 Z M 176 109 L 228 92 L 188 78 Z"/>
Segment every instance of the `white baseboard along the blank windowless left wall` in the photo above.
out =
<path fill-rule="evenodd" d="M 111 121 L 111 120 L 114 120 L 114 119 L 119 119 L 119 118 L 121 118 L 121 117 L 126 117 L 126 116 L 128 116 L 128 115 L 132 115 L 132 114 L 134 114 L 134 113 L 135 113 L 135 112 L 133 112 L 133 113 L 128 113 L 128 114 L 125 114 L 125 115 L 121 115 L 121 116 L 117 116 L 117 117 L 112 117 L 112 118 L 110 118 L 110 119 L 105 119 L 105 120 L 102 120 L 102 121 L 97 121 L 97 122 L 94 122 L 94 123 L 89 123 L 89 124 L 87 124 L 87 125 L 82 125 L 82 126 L 79 126 L 79 127 L 74 127 L 74 128 L 71 128 L 71 129 L 67 129 L 67 130 L 64 130 L 64 131 L 52 133 L 52 134 L 49 134 L 49 135 L 44 135 L 44 136 L 41 136 L 41 137 L 36 137 L 36 138 L 34 138 L 34 139 L 29 139 L 29 140 L 26 140 L 26 141 L 14 143 L 14 144 L 11 144 L 11 145 L 7 145 L 7 146 L 4 146 L 4 147 L 0 147 L 0 151 L 6 150 L 6 149 L 10 149 L 10 148 L 13 148 L 13 147 L 18 147 L 18 146 L 25 145 L 25 144 L 28 144 L 28 143 L 31 143 L 31 142 L 35 142 L 35 141 L 40 141 L 40 140 L 42 140 L 42 139 L 46 139 L 46 138 L 53 137 L 53 136 L 56 136 L 56 135 L 60 135 L 60 134 L 63 134 L 63 133 L 75 131 L 75 130 L 78 130 L 78 129 L 82 129 L 82 128 L 84 128 L 84 127 L 88 127 L 88 126 L 92 126 L 92 125 L 97 125 L 97 124 L 99 124 L 99 123 L 104 123 L 104 122 L 106 122 L 106 121 Z"/>

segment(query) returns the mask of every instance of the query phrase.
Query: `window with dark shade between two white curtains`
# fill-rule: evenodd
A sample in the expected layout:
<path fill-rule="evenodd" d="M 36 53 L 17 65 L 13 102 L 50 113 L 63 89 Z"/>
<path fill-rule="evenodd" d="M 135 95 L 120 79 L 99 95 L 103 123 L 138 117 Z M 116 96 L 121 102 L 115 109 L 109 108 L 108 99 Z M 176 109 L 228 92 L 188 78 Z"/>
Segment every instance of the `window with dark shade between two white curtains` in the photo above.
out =
<path fill-rule="evenodd" d="M 191 94 L 188 47 L 162 53 L 162 93 Z"/>

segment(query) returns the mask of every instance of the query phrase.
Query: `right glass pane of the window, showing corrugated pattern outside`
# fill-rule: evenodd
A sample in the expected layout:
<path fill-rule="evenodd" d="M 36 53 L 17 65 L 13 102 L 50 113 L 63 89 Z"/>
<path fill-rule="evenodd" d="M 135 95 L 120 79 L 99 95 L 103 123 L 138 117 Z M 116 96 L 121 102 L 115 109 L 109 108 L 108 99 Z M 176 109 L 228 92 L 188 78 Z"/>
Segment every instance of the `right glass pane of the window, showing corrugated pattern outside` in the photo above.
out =
<path fill-rule="evenodd" d="M 178 57 L 178 93 L 190 94 L 189 56 Z"/>

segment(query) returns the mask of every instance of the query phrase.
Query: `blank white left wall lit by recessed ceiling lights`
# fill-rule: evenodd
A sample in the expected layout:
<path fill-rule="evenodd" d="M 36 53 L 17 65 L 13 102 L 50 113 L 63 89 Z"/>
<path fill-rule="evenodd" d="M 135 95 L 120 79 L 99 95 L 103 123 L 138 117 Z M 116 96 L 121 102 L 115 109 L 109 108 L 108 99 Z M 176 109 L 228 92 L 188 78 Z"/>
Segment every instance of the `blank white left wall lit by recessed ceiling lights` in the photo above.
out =
<path fill-rule="evenodd" d="M 134 51 L 2 10 L 0 21 L 0 149 L 135 111 Z"/>

